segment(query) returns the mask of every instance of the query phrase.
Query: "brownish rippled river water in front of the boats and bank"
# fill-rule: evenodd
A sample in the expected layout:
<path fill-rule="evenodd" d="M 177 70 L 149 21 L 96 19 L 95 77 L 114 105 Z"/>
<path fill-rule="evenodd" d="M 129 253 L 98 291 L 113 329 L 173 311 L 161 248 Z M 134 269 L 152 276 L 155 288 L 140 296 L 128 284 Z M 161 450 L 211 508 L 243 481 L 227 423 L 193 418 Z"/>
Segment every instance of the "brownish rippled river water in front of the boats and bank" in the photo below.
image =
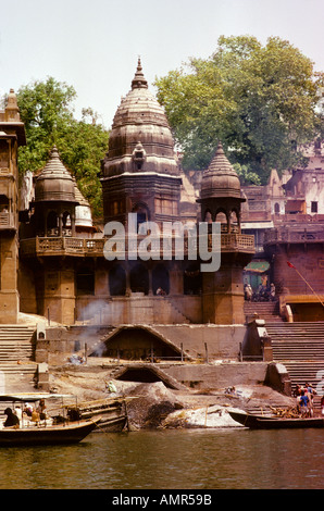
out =
<path fill-rule="evenodd" d="M 0 489 L 323 489 L 324 431 L 92 433 L 0 448 Z"/>

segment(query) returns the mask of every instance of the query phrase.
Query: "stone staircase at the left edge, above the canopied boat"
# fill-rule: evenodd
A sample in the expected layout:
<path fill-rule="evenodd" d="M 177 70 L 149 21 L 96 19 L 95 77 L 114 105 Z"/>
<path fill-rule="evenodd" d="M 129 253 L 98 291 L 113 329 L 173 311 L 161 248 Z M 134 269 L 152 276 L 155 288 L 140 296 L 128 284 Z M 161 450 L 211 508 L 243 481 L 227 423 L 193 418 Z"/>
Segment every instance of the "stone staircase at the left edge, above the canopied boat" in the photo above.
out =
<path fill-rule="evenodd" d="M 0 394 L 33 389 L 35 331 L 34 325 L 0 325 Z"/>

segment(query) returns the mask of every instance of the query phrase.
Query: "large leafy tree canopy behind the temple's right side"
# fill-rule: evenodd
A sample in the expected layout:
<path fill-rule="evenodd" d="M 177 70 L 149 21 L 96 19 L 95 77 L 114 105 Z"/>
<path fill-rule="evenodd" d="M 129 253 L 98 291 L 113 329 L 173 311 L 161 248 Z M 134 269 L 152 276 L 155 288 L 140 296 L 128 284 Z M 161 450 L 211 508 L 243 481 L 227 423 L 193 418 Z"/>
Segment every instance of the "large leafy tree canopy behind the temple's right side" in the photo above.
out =
<path fill-rule="evenodd" d="M 323 126 L 323 74 L 277 37 L 262 46 L 250 36 L 222 36 L 209 59 L 191 58 L 154 85 L 185 170 L 205 169 L 221 139 L 245 177 L 257 173 L 264 183 L 271 169 L 300 164 L 299 145 Z"/>

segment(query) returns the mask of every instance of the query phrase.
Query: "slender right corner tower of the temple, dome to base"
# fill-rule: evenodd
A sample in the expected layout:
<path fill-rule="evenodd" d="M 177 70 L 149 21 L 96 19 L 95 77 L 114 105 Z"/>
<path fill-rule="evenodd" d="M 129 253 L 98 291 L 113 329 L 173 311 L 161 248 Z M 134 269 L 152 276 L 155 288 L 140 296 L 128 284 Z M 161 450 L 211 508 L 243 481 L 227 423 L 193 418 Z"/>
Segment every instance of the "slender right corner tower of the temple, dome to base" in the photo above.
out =
<path fill-rule="evenodd" d="M 201 220 L 221 223 L 221 267 L 202 274 L 203 321 L 216 324 L 242 324 L 242 269 L 254 253 L 254 237 L 240 230 L 241 197 L 239 178 L 220 144 L 203 172 Z"/>

